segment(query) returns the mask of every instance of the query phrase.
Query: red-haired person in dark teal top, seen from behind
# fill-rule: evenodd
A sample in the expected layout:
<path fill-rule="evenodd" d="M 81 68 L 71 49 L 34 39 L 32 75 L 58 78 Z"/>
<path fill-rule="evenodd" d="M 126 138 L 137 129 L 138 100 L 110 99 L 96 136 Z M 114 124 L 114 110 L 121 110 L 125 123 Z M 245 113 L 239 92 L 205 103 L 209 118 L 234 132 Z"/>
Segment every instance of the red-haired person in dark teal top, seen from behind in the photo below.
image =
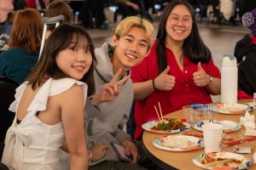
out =
<path fill-rule="evenodd" d="M 0 76 L 22 83 L 38 62 L 43 34 L 42 16 L 26 8 L 16 13 L 9 49 L 0 54 Z"/>

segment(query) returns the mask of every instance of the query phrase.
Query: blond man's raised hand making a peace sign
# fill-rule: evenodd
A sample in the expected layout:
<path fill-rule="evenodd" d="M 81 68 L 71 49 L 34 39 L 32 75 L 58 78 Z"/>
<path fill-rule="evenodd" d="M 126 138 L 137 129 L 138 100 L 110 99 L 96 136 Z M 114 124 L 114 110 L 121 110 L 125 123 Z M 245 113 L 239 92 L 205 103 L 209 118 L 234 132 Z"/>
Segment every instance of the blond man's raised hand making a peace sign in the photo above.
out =
<path fill-rule="evenodd" d="M 102 86 L 102 90 L 99 94 L 93 95 L 92 99 L 94 105 L 99 105 L 103 102 L 111 101 L 120 94 L 119 86 L 124 84 L 130 78 L 129 75 L 117 81 L 119 79 L 121 71 L 122 69 L 119 69 L 119 71 L 117 71 L 117 73 L 113 76 L 111 82 L 105 83 Z"/>

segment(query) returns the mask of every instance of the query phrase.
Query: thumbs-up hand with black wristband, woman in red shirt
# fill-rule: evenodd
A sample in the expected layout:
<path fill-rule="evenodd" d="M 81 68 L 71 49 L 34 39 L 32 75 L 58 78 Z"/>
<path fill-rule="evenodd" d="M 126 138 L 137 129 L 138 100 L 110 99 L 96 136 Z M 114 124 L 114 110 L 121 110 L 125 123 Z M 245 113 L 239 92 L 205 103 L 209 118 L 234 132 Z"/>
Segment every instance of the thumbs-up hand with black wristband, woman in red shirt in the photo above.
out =
<path fill-rule="evenodd" d="M 158 77 L 154 79 L 154 87 L 158 90 L 170 91 L 175 85 L 175 77 L 169 75 L 170 66 L 167 65 L 166 70 L 162 71 Z"/>

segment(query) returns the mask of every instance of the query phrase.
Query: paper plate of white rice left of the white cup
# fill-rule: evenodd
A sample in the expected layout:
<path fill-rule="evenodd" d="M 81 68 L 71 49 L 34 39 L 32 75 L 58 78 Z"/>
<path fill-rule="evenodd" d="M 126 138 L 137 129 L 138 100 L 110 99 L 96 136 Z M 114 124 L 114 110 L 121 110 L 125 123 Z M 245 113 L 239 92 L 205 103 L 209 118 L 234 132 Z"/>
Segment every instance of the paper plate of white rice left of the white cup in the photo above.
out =
<path fill-rule="evenodd" d="M 153 140 L 155 147 L 169 151 L 197 150 L 204 146 L 201 138 L 186 135 L 169 135 Z"/>

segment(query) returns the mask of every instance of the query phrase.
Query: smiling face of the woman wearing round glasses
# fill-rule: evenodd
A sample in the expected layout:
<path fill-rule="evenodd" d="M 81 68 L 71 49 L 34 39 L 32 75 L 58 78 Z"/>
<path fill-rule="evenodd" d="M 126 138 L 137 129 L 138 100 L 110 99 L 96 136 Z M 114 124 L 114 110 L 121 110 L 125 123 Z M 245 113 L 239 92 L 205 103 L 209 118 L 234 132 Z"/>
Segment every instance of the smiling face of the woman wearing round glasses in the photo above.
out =
<path fill-rule="evenodd" d="M 177 24 L 174 25 L 170 20 L 178 21 Z M 166 38 L 170 38 L 171 41 L 175 42 L 183 42 L 189 37 L 193 23 L 191 23 L 190 26 L 184 26 L 183 23 L 185 23 L 186 20 L 192 21 L 189 8 L 185 5 L 177 5 L 174 7 L 166 20 Z"/>

